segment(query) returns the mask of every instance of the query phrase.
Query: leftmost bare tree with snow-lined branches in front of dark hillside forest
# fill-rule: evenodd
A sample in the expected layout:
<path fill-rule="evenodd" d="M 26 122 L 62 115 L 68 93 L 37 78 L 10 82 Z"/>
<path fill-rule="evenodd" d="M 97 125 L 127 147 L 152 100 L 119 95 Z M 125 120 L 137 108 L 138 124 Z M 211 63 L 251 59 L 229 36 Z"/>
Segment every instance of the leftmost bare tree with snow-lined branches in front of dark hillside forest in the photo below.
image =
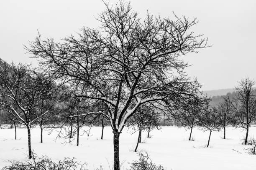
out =
<path fill-rule="evenodd" d="M 43 99 L 51 90 L 52 81 L 38 75 L 32 75 L 28 65 L 14 65 L 0 70 L 0 107 L 13 115 L 15 119 L 26 126 L 28 131 L 28 155 L 31 151 L 31 126 L 46 115 L 48 110 L 37 113 L 36 103 Z"/>

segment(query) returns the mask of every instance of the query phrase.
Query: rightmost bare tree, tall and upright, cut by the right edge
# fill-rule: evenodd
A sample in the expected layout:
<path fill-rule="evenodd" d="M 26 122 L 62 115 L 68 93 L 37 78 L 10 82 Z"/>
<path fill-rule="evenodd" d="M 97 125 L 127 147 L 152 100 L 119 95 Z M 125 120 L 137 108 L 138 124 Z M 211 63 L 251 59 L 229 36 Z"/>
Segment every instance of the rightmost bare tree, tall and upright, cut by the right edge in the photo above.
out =
<path fill-rule="evenodd" d="M 256 119 L 256 90 L 255 82 L 249 78 L 243 79 L 235 88 L 233 108 L 238 126 L 246 130 L 244 144 L 247 144 L 248 132 L 251 122 Z"/>

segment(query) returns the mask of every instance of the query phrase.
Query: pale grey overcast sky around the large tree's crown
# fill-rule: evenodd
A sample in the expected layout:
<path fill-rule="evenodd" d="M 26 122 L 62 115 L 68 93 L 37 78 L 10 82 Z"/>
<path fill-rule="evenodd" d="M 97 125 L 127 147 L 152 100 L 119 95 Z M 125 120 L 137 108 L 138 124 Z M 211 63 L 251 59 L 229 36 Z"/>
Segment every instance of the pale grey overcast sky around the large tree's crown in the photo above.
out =
<path fill-rule="evenodd" d="M 197 17 L 195 32 L 213 46 L 184 60 L 203 90 L 233 88 L 243 77 L 256 80 L 256 0 L 131 0 L 131 5 L 141 17 L 146 10 L 161 17 L 172 18 L 172 12 Z M 23 45 L 37 30 L 59 40 L 83 26 L 96 28 L 95 17 L 103 10 L 101 0 L 0 0 L 0 57 L 36 66 Z"/>

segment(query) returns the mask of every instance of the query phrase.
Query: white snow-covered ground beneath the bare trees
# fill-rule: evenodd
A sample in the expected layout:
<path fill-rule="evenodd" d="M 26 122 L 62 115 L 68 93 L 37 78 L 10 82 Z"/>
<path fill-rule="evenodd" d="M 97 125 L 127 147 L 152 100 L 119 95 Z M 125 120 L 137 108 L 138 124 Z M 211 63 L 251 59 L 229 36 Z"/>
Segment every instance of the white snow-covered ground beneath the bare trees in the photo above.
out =
<path fill-rule="evenodd" d="M 32 149 L 38 156 L 47 155 L 53 160 L 64 157 L 74 157 L 82 163 L 86 162 L 87 169 L 94 170 L 102 165 L 104 170 L 110 170 L 113 164 L 113 135 L 110 127 L 105 128 L 104 140 L 100 140 L 101 128 L 92 129 L 92 135 L 80 137 L 80 146 L 76 146 L 76 140 L 63 144 L 63 140 L 56 142 L 56 133 L 48 135 L 44 131 L 44 143 L 40 143 L 40 129 L 31 130 Z M 8 160 L 26 160 L 27 132 L 26 129 L 17 129 L 17 138 L 14 140 L 14 129 L 0 129 L 0 168 L 8 165 Z M 120 163 L 121 169 L 128 168 L 128 163 L 137 160 L 137 153 L 133 152 L 136 146 L 137 133 L 131 135 L 123 130 L 120 135 Z M 241 129 L 228 128 L 223 140 L 223 131 L 213 132 L 210 147 L 205 148 L 209 132 L 199 129 L 193 130 L 195 141 L 188 141 L 189 131 L 184 128 L 163 127 L 161 131 L 151 132 L 152 138 L 146 138 L 146 132 L 142 134 L 143 143 L 138 150 L 147 152 L 154 163 L 161 164 L 166 170 L 255 170 L 256 155 L 249 155 L 244 148 L 250 146 L 241 145 L 241 139 L 245 132 Z M 249 136 L 256 138 L 256 127 L 251 127 Z M 237 150 L 238 153 L 234 150 Z"/>

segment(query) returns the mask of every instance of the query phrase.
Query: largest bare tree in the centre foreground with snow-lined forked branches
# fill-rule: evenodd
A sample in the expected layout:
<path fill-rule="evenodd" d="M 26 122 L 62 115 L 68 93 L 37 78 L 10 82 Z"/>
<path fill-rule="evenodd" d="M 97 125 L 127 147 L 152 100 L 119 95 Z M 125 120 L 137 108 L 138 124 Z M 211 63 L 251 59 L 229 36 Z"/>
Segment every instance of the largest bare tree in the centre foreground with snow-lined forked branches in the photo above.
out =
<path fill-rule="evenodd" d="M 163 100 L 179 105 L 197 94 L 200 85 L 185 76 L 189 64 L 179 56 L 197 52 L 207 40 L 190 31 L 196 19 L 147 14 L 142 20 L 130 3 L 105 6 L 97 29 L 85 27 L 78 37 L 61 42 L 38 35 L 27 50 L 40 59 L 44 74 L 77 87 L 77 96 L 105 103 L 107 114 L 82 115 L 100 114 L 110 121 L 114 170 L 119 170 L 119 137 L 140 105 L 163 105 Z"/>

